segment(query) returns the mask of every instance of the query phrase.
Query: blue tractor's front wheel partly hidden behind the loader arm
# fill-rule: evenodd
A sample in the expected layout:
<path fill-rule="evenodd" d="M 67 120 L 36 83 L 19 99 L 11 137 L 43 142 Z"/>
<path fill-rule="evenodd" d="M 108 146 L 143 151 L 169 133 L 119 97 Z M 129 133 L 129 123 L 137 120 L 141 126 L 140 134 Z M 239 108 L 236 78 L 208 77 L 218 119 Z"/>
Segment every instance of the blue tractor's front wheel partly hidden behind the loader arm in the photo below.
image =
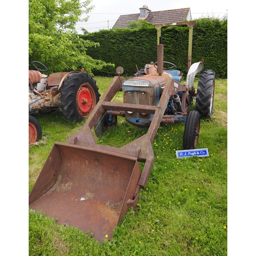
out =
<path fill-rule="evenodd" d="M 99 119 L 94 124 L 95 134 L 98 136 L 103 135 L 103 133 L 112 126 L 116 126 L 117 116 L 106 114 L 106 110 L 101 114 Z"/>

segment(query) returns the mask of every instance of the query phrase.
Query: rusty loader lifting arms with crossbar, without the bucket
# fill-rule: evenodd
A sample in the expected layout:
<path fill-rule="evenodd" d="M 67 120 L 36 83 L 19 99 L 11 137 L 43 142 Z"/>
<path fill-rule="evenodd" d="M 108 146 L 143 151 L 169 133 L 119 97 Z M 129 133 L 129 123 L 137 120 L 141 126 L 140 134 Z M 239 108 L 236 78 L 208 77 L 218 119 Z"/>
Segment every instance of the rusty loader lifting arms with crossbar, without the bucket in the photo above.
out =
<path fill-rule="evenodd" d="M 136 207 L 136 204 L 139 200 L 139 191 L 140 189 L 144 189 L 150 176 L 151 169 L 155 160 L 152 143 L 156 136 L 159 124 L 162 121 L 163 114 L 165 112 L 166 106 L 168 104 L 169 98 L 172 94 L 175 94 L 172 90 L 174 87 L 174 79 L 169 78 L 166 81 L 162 96 L 157 106 L 152 105 L 135 105 L 128 103 L 117 103 L 111 102 L 113 97 L 117 92 L 121 89 L 121 82 L 124 78 L 115 76 L 112 80 L 110 86 L 105 91 L 105 93 L 100 98 L 96 108 L 90 114 L 87 122 L 82 126 L 81 130 L 79 130 L 76 134 L 71 136 L 67 143 L 99 148 L 101 150 L 110 151 L 113 154 L 124 154 L 127 156 L 136 157 L 139 162 L 144 162 L 144 167 L 135 189 L 134 200 L 130 200 L 130 207 Z M 179 84 L 179 89 L 182 90 L 182 84 Z M 98 118 L 105 110 L 113 110 L 113 111 L 134 111 L 138 113 L 147 113 L 154 114 L 152 118 L 151 124 L 148 128 L 148 132 L 139 137 L 138 139 L 130 142 L 122 146 L 121 148 L 116 148 L 108 145 L 99 145 L 96 143 L 95 138 L 92 133 L 92 129 Z"/>

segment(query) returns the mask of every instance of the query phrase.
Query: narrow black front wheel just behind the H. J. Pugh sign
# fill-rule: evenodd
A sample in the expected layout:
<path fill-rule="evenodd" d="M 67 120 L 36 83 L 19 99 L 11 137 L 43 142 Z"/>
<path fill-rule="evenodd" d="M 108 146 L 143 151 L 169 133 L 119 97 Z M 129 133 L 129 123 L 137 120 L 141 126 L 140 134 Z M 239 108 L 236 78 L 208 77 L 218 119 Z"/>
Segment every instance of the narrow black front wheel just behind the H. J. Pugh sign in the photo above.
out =
<path fill-rule="evenodd" d="M 191 111 L 185 123 L 183 134 L 183 149 L 194 150 L 197 146 L 200 131 L 200 114 L 197 111 Z"/>

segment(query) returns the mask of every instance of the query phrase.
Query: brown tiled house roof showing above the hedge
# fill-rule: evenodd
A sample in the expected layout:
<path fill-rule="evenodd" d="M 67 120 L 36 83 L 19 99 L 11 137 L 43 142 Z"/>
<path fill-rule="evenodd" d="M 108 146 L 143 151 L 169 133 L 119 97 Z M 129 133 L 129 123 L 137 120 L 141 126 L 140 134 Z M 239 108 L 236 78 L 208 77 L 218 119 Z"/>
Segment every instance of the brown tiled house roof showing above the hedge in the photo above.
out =
<path fill-rule="evenodd" d="M 140 8 L 143 9 L 143 8 Z M 139 20 L 144 19 L 148 23 L 152 24 L 163 24 L 163 23 L 173 23 L 173 22 L 183 22 L 184 19 L 190 20 L 191 13 L 190 8 L 182 8 L 182 9 L 174 9 L 174 10 L 166 10 L 166 11 L 156 11 L 152 12 L 147 9 L 149 12 L 145 16 L 145 18 L 140 18 L 140 13 L 136 14 L 127 14 L 120 15 L 114 24 L 113 28 L 128 28 L 131 20 Z"/>

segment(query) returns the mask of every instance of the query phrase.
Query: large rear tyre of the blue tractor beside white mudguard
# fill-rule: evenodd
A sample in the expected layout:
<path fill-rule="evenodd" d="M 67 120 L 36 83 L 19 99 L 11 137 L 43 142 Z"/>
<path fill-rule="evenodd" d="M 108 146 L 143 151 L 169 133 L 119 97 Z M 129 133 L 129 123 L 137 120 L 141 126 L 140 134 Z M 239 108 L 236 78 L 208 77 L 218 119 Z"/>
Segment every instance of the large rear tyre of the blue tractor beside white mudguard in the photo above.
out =
<path fill-rule="evenodd" d="M 211 118 L 214 109 L 215 71 L 204 70 L 201 72 L 198 87 L 196 110 L 201 118 Z"/>

